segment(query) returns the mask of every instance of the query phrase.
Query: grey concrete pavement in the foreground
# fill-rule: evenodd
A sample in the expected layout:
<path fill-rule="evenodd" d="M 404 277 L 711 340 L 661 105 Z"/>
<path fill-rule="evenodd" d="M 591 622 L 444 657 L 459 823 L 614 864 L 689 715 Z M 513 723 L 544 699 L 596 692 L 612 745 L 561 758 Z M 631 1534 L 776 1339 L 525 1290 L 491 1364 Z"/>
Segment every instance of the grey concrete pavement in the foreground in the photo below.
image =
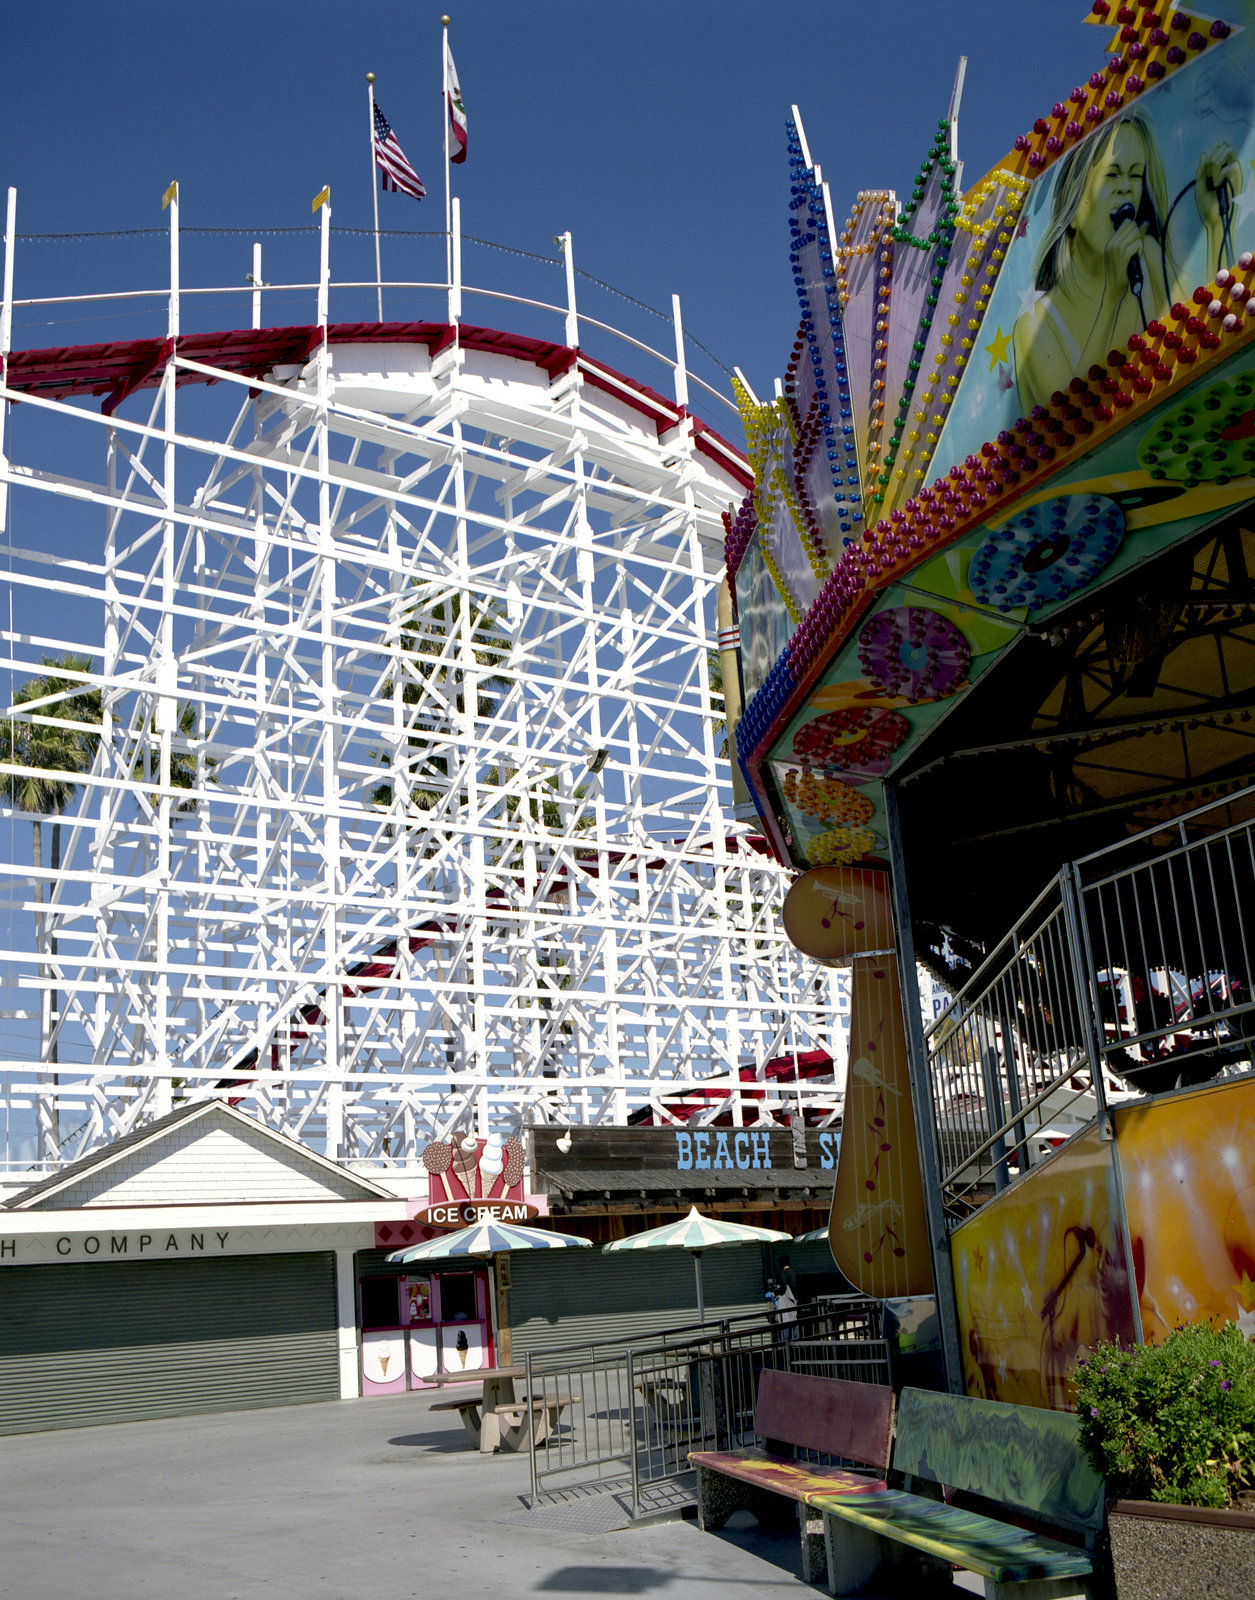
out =
<path fill-rule="evenodd" d="M 426 1395 L 0 1438 L 3 1600 L 816 1597 L 797 1536 L 692 1522 L 503 1523 L 525 1456 L 482 1458 Z"/>

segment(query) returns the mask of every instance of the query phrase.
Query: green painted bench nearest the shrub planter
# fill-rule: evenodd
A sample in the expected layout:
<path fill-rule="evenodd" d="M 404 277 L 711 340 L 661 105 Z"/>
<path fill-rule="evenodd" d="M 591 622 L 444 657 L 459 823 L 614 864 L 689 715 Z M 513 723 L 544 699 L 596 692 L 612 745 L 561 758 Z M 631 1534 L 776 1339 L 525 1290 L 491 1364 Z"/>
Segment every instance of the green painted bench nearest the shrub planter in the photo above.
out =
<path fill-rule="evenodd" d="M 914 1600 L 930 1587 L 949 1589 L 956 1566 L 980 1574 L 989 1600 L 1092 1594 L 1103 1480 L 1085 1461 L 1069 1413 L 904 1389 L 893 1469 L 906 1490 L 807 1494 L 823 1517 L 831 1594 L 895 1592 Z M 1034 1530 L 1077 1542 L 909 1493 L 916 1482 L 994 1501 Z"/>

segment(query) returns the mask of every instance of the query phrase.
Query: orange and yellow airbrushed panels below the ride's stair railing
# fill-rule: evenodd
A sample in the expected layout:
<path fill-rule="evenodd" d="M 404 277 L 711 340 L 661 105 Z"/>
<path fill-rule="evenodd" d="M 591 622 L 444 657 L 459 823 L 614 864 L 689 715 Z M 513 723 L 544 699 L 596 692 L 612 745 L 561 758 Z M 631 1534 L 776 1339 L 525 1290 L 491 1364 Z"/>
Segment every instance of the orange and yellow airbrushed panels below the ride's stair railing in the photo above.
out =
<path fill-rule="evenodd" d="M 1114 1117 L 1114 1141 L 1081 1134 L 951 1235 L 968 1394 L 1066 1410 L 1098 1339 L 1255 1336 L 1255 1080 Z"/>

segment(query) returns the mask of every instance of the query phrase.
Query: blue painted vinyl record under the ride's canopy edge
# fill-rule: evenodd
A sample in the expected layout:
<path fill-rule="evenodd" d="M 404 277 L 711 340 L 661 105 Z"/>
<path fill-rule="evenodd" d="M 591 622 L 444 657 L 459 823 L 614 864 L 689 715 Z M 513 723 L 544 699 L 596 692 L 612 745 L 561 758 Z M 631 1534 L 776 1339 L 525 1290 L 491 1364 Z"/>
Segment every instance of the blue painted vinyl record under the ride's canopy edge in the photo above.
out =
<path fill-rule="evenodd" d="M 1124 539 L 1124 512 L 1105 494 L 1029 506 L 989 533 L 972 557 L 975 597 L 999 611 L 1036 611 L 1084 589 Z"/>

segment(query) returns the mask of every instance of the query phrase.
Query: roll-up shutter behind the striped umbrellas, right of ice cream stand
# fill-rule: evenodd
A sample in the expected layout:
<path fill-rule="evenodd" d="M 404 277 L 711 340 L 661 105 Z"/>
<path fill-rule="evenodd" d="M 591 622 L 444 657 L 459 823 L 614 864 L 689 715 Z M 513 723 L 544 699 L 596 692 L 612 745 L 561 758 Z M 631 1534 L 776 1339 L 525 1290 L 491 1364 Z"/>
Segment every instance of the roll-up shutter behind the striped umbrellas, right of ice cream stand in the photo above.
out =
<path fill-rule="evenodd" d="M 762 1250 L 727 1245 L 701 1258 L 706 1317 L 765 1312 Z M 696 1322 L 693 1258 L 685 1250 L 602 1254 L 536 1250 L 511 1256 L 511 1358 L 567 1344 L 644 1342 Z"/>

